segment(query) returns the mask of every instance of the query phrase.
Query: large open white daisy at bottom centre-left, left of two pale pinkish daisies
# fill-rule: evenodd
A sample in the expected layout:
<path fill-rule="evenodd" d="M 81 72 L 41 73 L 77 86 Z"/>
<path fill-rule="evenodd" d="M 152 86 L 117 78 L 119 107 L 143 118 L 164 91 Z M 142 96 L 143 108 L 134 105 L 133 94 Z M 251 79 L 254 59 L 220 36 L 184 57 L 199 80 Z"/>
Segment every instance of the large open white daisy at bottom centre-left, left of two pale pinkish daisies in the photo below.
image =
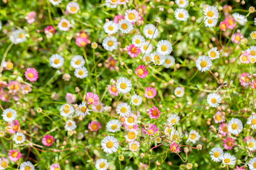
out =
<path fill-rule="evenodd" d="M 106 136 L 101 141 L 101 148 L 104 152 L 112 154 L 116 152 L 119 147 L 119 142 L 114 136 Z"/>

